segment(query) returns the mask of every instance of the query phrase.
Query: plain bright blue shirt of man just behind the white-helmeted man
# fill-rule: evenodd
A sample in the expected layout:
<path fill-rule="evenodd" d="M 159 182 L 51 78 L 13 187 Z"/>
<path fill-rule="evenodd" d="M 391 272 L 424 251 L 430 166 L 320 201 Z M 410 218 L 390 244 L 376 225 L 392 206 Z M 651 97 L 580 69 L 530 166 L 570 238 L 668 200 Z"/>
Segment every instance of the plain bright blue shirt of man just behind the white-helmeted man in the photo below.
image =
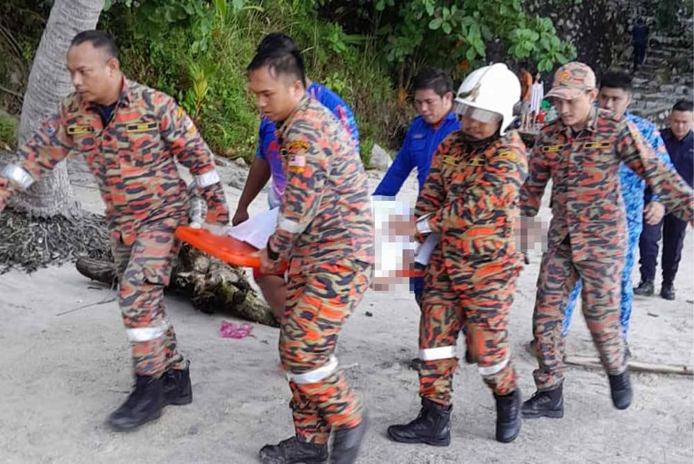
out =
<path fill-rule="evenodd" d="M 403 182 L 405 182 L 405 179 L 407 179 L 407 176 L 415 167 L 417 168 L 419 190 L 421 190 L 429 174 L 432 156 L 439 143 L 446 139 L 448 134 L 459 129 L 460 123 L 452 111 L 443 118 L 443 121 L 436 129 L 424 121 L 424 118 L 421 116 L 414 118 L 405 135 L 403 147 L 400 148 L 398 155 L 393 160 L 393 164 L 391 164 L 381 183 L 378 184 L 373 195 L 396 196 L 400 187 L 403 186 Z"/>

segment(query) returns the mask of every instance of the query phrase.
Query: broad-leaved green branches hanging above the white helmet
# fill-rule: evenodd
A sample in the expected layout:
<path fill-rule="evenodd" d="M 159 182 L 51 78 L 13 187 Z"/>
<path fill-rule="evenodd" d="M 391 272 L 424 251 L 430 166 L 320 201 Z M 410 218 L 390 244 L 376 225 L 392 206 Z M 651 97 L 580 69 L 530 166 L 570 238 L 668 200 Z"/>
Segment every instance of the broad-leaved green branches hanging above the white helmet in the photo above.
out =
<path fill-rule="evenodd" d="M 321 4 L 339 0 L 322 0 Z M 576 57 L 573 45 L 557 37 L 552 20 L 530 17 L 521 0 L 356 0 L 364 19 L 375 24 L 382 52 L 394 64 L 450 67 L 451 59 L 469 71 L 484 63 L 487 47 L 499 40 L 507 53 L 550 71 Z M 382 12 L 382 15 L 374 15 Z M 454 65 L 455 65 L 454 64 Z M 404 82 L 403 82 L 404 83 Z"/>

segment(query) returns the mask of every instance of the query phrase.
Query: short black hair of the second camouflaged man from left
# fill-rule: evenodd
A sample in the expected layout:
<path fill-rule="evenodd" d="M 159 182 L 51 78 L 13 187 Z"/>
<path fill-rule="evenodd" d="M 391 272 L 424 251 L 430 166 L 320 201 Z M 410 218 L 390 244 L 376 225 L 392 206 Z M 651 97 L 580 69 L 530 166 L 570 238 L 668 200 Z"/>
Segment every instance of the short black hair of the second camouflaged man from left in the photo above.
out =
<path fill-rule="evenodd" d="M 246 71 L 251 72 L 268 66 L 276 75 L 291 75 L 306 86 L 306 71 L 301 51 L 294 39 L 282 33 L 266 35 L 255 49 L 255 56 Z"/>

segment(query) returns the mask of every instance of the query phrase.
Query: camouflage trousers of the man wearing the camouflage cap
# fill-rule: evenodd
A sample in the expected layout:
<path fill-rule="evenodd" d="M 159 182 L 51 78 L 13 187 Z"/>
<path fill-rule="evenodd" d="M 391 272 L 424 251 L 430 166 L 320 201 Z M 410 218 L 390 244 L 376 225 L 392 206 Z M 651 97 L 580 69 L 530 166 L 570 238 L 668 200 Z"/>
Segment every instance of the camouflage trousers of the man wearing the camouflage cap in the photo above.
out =
<path fill-rule="evenodd" d="M 567 242 L 544 253 L 532 316 L 539 364 L 533 376 L 539 390 L 552 389 L 564 380 L 562 311 L 578 278 L 583 282 L 584 318 L 602 365 L 611 375 L 625 371 L 625 344 L 619 322 L 623 259 L 616 256 L 573 262 Z"/>

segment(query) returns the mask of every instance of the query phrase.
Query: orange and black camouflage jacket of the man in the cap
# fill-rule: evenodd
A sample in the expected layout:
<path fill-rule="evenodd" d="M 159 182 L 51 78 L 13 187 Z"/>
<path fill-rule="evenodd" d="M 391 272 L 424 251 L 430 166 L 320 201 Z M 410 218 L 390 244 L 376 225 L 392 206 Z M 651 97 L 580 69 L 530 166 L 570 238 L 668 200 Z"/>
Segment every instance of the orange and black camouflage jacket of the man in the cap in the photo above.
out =
<path fill-rule="evenodd" d="M 660 195 L 666 209 L 691 221 L 692 189 L 659 159 L 631 122 L 593 109 L 577 135 L 561 120 L 543 127 L 530 157 L 530 176 L 521 190 L 521 214 L 534 216 L 552 179 L 552 222 L 548 249 L 570 237 L 574 260 L 622 256 L 625 207 L 619 186 L 624 161 Z"/>

